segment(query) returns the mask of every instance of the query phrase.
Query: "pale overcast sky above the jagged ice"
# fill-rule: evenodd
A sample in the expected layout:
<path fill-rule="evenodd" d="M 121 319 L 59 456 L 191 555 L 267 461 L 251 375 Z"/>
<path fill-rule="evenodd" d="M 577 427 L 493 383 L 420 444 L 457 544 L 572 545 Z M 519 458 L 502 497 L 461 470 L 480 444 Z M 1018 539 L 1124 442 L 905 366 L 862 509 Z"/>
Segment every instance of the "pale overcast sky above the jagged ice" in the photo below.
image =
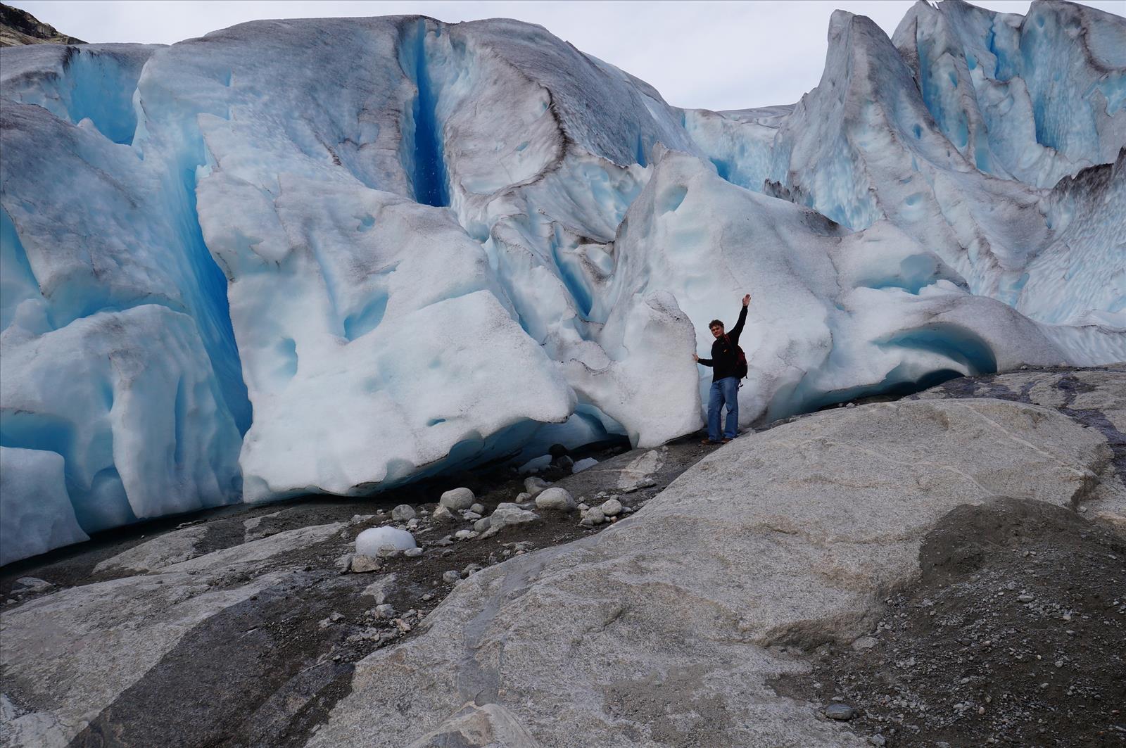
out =
<path fill-rule="evenodd" d="M 160 44 L 260 18 L 397 14 L 448 23 L 518 18 L 649 81 L 669 104 L 739 109 L 792 104 L 817 84 L 833 9 L 868 16 L 891 36 L 912 1 L 9 0 L 9 5 L 87 42 Z M 1029 2 L 974 5 L 1024 15 Z M 1083 5 L 1126 15 L 1126 0 Z"/>

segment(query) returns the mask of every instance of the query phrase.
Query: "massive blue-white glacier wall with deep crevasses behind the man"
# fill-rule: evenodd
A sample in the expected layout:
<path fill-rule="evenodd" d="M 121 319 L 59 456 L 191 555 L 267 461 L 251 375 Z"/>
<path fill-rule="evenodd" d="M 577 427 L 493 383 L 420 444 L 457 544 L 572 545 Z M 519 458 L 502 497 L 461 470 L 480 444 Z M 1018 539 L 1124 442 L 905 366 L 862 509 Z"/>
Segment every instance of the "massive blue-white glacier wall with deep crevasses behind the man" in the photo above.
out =
<path fill-rule="evenodd" d="M 0 51 L 0 562 L 1126 359 L 1126 19 L 837 11 L 801 101 L 681 109 L 515 20 Z"/>

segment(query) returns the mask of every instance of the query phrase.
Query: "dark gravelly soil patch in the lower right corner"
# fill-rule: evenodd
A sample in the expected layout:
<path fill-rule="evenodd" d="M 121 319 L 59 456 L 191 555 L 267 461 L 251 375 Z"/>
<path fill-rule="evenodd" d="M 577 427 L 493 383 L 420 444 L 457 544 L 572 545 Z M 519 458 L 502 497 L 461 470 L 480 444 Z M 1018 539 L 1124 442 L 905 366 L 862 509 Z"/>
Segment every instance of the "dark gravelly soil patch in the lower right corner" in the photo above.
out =
<path fill-rule="evenodd" d="M 1126 746 L 1126 538 L 1054 505 L 960 506 L 876 631 L 779 693 L 887 746 Z M 878 736 L 878 737 L 875 737 Z"/>

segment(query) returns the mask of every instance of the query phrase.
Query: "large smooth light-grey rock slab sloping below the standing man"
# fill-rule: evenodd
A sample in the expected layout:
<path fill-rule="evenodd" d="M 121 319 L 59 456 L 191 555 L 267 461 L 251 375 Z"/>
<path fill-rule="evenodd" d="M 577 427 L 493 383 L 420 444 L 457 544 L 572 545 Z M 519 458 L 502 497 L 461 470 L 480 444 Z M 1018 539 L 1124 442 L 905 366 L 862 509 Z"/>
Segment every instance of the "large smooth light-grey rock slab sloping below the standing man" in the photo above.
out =
<path fill-rule="evenodd" d="M 425 634 L 357 665 L 310 745 L 409 745 L 476 700 L 544 746 L 863 746 L 777 697 L 769 678 L 803 666 L 768 645 L 856 639 L 950 508 L 1069 505 L 1109 458 L 1091 429 L 998 400 L 840 409 L 738 439 L 629 523 L 464 580 Z"/>

